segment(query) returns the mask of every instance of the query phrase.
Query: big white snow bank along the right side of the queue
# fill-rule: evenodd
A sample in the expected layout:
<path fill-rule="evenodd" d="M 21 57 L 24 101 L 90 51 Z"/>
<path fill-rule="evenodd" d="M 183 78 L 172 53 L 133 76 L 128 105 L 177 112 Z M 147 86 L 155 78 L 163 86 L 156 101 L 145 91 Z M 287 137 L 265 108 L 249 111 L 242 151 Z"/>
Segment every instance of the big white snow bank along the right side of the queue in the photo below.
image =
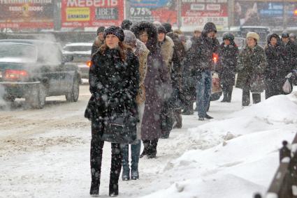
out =
<path fill-rule="evenodd" d="M 275 96 L 227 119 L 191 128 L 178 138 L 203 146 L 168 162 L 164 176 L 173 176 L 171 186 L 145 198 L 264 195 L 279 165 L 281 142 L 292 141 L 296 125 L 296 103 Z"/>

